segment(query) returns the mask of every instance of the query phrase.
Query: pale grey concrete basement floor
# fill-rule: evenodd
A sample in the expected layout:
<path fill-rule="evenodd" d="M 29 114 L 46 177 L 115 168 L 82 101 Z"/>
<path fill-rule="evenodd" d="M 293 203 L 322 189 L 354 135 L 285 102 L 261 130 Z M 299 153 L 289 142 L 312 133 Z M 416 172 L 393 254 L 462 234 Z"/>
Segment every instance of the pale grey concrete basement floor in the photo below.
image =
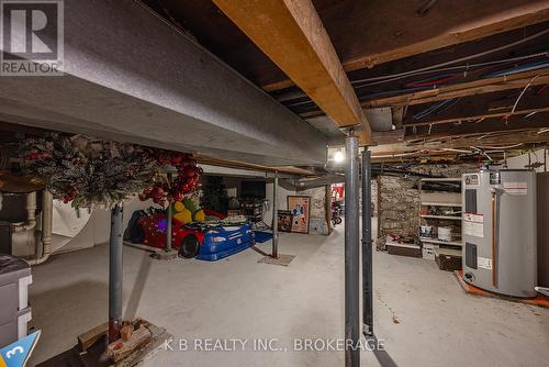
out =
<path fill-rule="evenodd" d="M 176 338 L 343 338 L 344 234 L 281 234 L 289 267 L 248 249 L 217 263 L 160 263 L 124 248 L 126 318 Z M 261 244 L 268 251 L 270 244 Z M 32 325 L 43 334 L 30 366 L 107 321 L 108 246 L 53 257 L 33 269 Z M 548 366 L 549 310 L 466 294 L 435 262 L 374 253 L 379 338 L 399 366 Z M 191 347 L 192 349 L 192 347 Z M 340 352 L 168 352 L 143 366 L 344 366 Z M 363 366 L 377 366 L 363 352 Z"/>

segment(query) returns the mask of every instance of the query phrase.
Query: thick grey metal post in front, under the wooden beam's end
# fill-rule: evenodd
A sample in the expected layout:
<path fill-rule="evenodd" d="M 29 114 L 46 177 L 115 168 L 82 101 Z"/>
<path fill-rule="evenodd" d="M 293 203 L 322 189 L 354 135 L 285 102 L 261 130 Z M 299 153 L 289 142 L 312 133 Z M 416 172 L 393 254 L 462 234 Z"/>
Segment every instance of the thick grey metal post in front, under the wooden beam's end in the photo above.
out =
<path fill-rule="evenodd" d="M 359 159 L 358 138 L 352 131 L 346 138 L 347 165 L 345 169 L 345 366 L 360 366 L 360 311 L 359 311 Z"/>

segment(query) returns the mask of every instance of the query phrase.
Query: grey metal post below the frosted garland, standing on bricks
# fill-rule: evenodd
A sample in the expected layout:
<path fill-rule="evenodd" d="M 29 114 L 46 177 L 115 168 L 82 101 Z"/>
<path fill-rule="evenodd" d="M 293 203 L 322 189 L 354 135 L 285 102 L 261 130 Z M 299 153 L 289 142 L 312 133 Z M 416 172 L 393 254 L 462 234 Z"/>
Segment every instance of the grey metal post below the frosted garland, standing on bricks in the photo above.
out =
<path fill-rule="evenodd" d="M 124 211 L 121 204 L 111 210 L 109 242 L 109 343 L 120 338 L 122 327 L 122 226 Z"/>

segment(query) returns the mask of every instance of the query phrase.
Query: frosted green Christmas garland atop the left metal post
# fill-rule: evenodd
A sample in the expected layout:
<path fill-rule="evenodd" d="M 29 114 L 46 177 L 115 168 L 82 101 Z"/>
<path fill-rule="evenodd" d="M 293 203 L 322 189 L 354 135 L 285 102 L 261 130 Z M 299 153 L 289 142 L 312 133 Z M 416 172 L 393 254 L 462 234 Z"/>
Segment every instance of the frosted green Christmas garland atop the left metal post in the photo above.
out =
<path fill-rule="evenodd" d="M 75 208 L 111 208 L 150 187 L 159 173 L 152 149 L 83 135 L 29 138 L 22 154 L 27 173 Z"/>

